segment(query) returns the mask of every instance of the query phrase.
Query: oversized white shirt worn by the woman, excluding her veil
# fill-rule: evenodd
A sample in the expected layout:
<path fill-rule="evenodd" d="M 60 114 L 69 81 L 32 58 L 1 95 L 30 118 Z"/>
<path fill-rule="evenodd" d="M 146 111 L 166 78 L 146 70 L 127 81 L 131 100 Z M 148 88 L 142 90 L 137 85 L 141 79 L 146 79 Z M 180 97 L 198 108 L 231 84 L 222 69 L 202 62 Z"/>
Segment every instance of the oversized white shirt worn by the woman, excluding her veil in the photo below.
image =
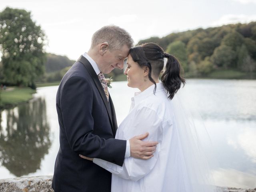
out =
<path fill-rule="evenodd" d="M 131 110 L 116 132 L 116 138 L 128 139 L 149 132 L 145 140 L 158 141 L 149 160 L 125 158 L 123 166 L 94 158 L 93 162 L 112 172 L 112 192 L 190 191 L 186 166 L 172 111 L 172 100 L 162 83 L 135 94 Z"/>

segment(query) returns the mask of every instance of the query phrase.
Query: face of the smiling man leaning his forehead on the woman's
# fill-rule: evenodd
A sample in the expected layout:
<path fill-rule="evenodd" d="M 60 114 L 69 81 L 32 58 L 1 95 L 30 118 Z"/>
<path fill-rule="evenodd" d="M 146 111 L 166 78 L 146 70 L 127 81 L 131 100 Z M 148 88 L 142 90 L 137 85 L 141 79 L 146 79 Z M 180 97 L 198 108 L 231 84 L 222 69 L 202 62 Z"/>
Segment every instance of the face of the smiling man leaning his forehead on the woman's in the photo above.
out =
<path fill-rule="evenodd" d="M 114 68 L 124 68 L 124 59 L 128 56 L 129 48 L 124 45 L 118 50 L 107 49 L 101 58 L 101 62 L 98 63 L 100 71 L 104 74 L 110 73 Z"/>

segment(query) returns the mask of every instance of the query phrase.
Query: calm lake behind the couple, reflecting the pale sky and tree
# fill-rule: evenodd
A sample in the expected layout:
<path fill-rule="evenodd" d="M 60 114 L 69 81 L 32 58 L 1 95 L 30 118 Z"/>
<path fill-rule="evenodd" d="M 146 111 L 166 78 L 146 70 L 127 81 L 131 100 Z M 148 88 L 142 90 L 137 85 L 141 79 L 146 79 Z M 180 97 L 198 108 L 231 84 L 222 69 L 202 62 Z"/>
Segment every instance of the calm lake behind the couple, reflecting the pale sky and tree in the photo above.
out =
<path fill-rule="evenodd" d="M 137 89 L 113 82 L 118 124 Z M 59 148 L 55 108 L 58 86 L 38 88 L 28 104 L 0 113 L 0 179 L 52 175 Z M 256 80 L 188 80 L 186 107 L 202 116 L 221 169 L 216 184 L 256 187 Z"/>

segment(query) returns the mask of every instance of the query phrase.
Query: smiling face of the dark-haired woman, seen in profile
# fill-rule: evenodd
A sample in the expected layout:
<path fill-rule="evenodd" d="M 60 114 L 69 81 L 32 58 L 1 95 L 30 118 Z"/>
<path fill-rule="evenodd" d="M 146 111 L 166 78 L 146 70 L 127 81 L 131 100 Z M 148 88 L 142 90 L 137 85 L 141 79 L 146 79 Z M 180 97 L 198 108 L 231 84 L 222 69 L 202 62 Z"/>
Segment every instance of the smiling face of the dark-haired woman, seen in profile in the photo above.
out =
<path fill-rule="evenodd" d="M 127 76 L 127 85 L 129 87 L 141 90 L 144 85 L 144 68 L 141 68 L 137 62 L 134 62 L 130 54 L 127 58 L 127 68 L 124 74 Z"/>

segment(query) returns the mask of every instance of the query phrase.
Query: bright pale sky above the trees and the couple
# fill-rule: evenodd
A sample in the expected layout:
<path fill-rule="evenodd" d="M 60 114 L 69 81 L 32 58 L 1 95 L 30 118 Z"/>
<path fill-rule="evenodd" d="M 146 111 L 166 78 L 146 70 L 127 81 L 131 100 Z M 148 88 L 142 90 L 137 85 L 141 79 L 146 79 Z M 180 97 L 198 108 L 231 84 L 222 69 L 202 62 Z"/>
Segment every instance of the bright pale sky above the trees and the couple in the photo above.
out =
<path fill-rule="evenodd" d="M 256 0 L 0 0 L 31 12 L 48 37 L 46 52 L 72 60 L 87 52 L 92 34 L 114 24 L 134 39 L 256 21 Z"/>

